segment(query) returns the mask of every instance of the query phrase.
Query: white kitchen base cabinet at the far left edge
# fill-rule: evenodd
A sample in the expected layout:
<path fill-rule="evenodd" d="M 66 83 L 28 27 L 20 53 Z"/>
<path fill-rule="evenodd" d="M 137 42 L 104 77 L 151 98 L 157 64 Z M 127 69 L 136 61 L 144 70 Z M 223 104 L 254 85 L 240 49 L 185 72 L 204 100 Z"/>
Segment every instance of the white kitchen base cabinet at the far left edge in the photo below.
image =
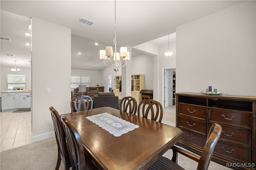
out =
<path fill-rule="evenodd" d="M 3 93 L 1 109 L 15 109 L 15 93 Z"/>

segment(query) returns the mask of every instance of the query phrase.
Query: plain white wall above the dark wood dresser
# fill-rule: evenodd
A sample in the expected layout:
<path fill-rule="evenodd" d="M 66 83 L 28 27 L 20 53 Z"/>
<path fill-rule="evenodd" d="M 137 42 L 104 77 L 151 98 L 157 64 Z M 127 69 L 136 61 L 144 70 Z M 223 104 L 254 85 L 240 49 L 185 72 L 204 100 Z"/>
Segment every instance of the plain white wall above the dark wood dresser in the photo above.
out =
<path fill-rule="evenodd" d="M 255 1 L 176 29 L 176 91 L 256 95 Z"/>

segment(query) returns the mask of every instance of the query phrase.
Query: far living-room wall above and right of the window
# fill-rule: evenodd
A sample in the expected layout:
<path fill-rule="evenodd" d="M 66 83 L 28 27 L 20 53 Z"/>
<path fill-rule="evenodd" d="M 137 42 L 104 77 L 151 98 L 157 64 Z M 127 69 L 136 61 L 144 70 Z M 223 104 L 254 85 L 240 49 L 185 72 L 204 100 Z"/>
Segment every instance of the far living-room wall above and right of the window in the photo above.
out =
<path fill-rule="evenodd" d="M 71 69 L 72 76 L 90 76 L 91 83 L 90 86 L 96 86 L 96 81 L 99 82 L 99 86 L 105 86 L 102 82 L 101 71 L 96 70 L 82 70 L 82 69 Z"/>

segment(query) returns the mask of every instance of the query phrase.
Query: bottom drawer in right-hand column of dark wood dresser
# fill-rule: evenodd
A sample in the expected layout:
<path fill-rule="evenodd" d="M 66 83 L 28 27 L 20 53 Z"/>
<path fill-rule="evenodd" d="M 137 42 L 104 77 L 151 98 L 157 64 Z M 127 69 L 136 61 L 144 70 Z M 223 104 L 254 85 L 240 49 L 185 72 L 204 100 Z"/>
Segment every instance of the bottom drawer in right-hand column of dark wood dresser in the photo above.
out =
<path fill-rule="evenodd" d="M 250 157 L 250 155 L 252 155 L 250 149 L 245 149 L 218 141 L 214 151 L 220 153 L 222 156 L 228 156 L 233 159 L 236 158 L 238 161 L 241 160 L 241 162 L 252 162 Z"/>

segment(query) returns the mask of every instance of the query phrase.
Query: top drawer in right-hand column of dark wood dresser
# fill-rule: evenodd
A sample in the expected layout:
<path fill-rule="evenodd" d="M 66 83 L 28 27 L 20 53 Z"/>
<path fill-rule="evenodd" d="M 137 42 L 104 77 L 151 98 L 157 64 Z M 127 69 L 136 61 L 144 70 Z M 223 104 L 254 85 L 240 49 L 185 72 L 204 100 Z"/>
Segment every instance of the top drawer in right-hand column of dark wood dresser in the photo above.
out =
<path fill-rule="evenodd" d="M 209 109 L 209 121 L 222 122 L 236 127 L 251 128 L 251 115 L 244 112 Z"/>

